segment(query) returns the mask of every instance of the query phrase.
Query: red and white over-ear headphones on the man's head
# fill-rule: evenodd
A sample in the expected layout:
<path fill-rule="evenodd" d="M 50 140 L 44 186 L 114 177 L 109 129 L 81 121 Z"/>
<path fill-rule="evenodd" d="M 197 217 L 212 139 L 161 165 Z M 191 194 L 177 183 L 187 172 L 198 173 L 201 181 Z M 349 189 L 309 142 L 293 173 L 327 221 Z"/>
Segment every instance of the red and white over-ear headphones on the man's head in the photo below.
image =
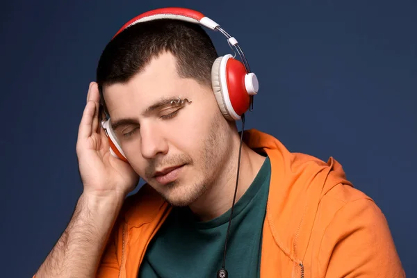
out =
<path fill-rule="evenodd" d="M 158 8 L 142 13 L 126 22 L 122 28 L 113 36 L 113 39 L 126 28 L 140 22 L 148 22 L 155 19 L 178 19 L 195 24 L 201 24 L 213 31 L 220 31 L 227 38 L 232 50 L 236 51 L 241 60 L 236 60 L 231 54 L 220 56 L 215 59 L 211 68 L 211 85 L 218 102 L 222 115 L 229 121 L 240 120 L 242 115 L 249 109 L 253 109 L 253 96 L 259 90 L 259 83 L 256 75 L 250 72 L 249 63 L 240 48 L 238 41 L 224 31 L 220 25 L 202 13 L 188 8 Z M 112 40 L 113 40 L 112 39 Z M 234 48 L 232 48 L 234 47 Z M 236 56 L 235 52 L 235 56 Z M 106 131 L 110 143 L 110 152 L 116 158 L 128 162 L 120 143 L 111 128 L 110 117 L 101 122 Z"/>

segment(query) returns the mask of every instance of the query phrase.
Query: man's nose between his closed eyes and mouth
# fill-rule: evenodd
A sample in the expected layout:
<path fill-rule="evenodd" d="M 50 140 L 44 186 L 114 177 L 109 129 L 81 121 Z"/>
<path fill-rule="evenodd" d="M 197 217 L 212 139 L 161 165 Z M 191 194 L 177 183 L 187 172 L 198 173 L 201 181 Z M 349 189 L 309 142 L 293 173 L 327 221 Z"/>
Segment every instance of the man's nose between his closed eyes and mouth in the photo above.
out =
<path fill-rule="evenodd" d="M 140 151 L 144 158 L 155 158 L 158 154 L 167 154 L 167 141 L 156 125 L 140 126 L 140 138 Z"/>

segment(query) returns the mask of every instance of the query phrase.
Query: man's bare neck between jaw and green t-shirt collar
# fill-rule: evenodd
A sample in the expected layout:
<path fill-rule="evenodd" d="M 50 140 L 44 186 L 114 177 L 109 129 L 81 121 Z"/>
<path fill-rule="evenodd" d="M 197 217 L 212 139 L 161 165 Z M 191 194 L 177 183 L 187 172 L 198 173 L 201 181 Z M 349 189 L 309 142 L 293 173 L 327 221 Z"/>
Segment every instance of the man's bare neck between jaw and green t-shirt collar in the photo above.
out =
<path fill-rule="evenodd" d="M 236 133 L 233 138 L 233 151 L 231 156 L 222 167 L 218 178 L 213 184 L 208 185 L 208 190 L 196 202 L 190 204 L 193 211 L 200 221 L 208 221 L 217 218 L 231 208 L 234 191 L 236 187 L 236 174 L 238 170 L 238 154 L 240 146 L 240 135 Z M 240 170 L 238 190 L 236 193 L 236 202 L 245 194 L 247 188 L 254 181 L 258 174 L 265 157 L 254 152 L 244 142 L 242 144 L 242 152 L 240 154 Z"/>

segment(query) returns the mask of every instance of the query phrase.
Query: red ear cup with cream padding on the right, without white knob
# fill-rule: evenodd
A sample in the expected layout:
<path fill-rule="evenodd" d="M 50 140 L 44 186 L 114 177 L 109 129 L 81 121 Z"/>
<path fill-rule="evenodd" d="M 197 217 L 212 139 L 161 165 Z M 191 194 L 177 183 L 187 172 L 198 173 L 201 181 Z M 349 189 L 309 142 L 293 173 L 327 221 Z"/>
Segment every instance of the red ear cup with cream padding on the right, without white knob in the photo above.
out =
<path fill-rule="evenodd" d="M 211 78 L 220 111 L 227 120 L 240 120 L 250 106 L 250 96 L 245 88 L 245 66 L 230 54 L 213 63 Z"/>

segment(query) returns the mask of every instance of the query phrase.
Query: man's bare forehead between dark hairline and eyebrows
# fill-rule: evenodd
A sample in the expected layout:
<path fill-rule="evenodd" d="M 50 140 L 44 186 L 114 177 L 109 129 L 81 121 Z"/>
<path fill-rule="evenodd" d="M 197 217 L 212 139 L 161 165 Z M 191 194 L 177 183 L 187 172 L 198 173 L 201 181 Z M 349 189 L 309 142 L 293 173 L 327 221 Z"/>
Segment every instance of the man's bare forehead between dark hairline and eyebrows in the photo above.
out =
<path fill-rule="evenodd" d="M 139 117 L 158 100 L 178 97 L 193 101 L 194 106 L 197 101 L 204 108 L 208 108 L 208 103 L 212 101 L 216 105 L 211 86 L 202 85 L 195 79 L 180 77 L 177 60 L 167 53 L 153 58 L 144 70 L 128 82 L 104 88 L 107 110 L 113 119 Z"/>

